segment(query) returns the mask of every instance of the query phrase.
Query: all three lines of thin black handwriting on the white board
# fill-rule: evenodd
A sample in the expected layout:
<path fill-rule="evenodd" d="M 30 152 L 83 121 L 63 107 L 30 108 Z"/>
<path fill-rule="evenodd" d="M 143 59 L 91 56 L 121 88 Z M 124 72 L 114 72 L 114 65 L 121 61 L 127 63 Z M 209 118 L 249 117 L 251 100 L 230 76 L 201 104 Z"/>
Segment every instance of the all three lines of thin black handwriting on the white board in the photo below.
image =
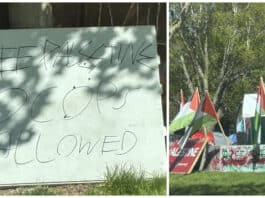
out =
<path fill-rule="evenodd" d="M 67 68 L 78 68 L 88 70 L 90 75 L 97 67 L 112 66 L 112 65 L 124 65 L 128 67 L 131 65 L 143 66 L 151 70 L 156 68 L 148 64 L 149 60 L 156 59 L 156 55 L 150 55 L 150 49 L 153 48 L 152 43 L 143 41 L 142 43 L 133 44 L 110 44 L 110 43 L 98 43 L 93 40 L 86 41 L 85 45 L 73 44 L 70 41 L 65 41 L 62 43 L 52 41 L 51 39 L 46 39 L 38 45 L 23 45 L 23 46 L 4 46 L 0 45 L 0 77 L 5 79 L 5 74 L 12 74 L 15 72 L 18 73 L 22 70 L 30 70 L 35 67 L 43 68 L 48 71 L 56 67 Z M 34 53 L 31 53 L 33 52 Z M 156 52 L 155 52 L 156 53 Z M 34 55 L 33 55 L 34 54 Z M 106 55 L 107 54 L 107 55 Z M 95 62 L 96 61 L 96 62 Z M 98 63 L 97 61 L 100 61 Z M 37 64 L 35 64 L 37 62 Z M 16 76 L 12 76 L 16 77 Z M 91 77 L 88 77 L 88 81 L 91 80 Z M 107 95 L 104 93 L 104 87 L 110 86 L 111 91 Z M 102 104 L 104 101 L 120 98 L 119 103 L 113 103 L 110 108 L 113 111 L 122 110 L 126 104 L 128 96 L 131 92 L 138 91 L 140 87 L 128 88 L 125 90 L 119 89 L 118 85 L 115 82 L 110 80 L 101 80 L 96 86 L 90 86 L 90 83 L 87 82 L 87 85 L 82 83 L 79 85 L 70 86 L 63 94 L 60 100 L 56 101 L 56 106 L 61 107 L 61 112 L 58 114 L 48 114 L 45 118 L 40 118 L 39 104 L 45 104 L 44 98 L 49 95 L 51 92 L 59 89 L 59 85 L 56 83 L 53 86 L 48 86 L 40 90 L 38 93 L 31 94 L 31 90 L 27 90 L 26 87 L 5 87 L 0 90 L 0 103 L 1 98 L 4 98 L 6 95 L 9 97 L 15 95 L 19 98 L 19 102 L 15 108 L 10 108 L 7 113 L 1 112 L 0 109 L 0 124 L 5 124 L 5 122 L 12 121 L 15 116 L 22 111 L 23 109 L 29 111 L 29 119 L 32 123 L 37 125 L 55 123 L 58 119 L 63 122 L 68 122 L 74 120 L 77 117 L 81 116 L 85 112 L 88 112 L 89 105 L 93 105 L 97 109 L 97 115 L 100 115 L 104 112 Z M 75 111 L 70 111 L 68 106 L 68 101 L 72 101 L 75 95 L 86 92 L 85 103 L 79 105 Z M 12 99 L 12 97 L 10 97 Z M 115 100 L 113 100 L 115 101 Z M 117 101 L 117 100 L 116 100 Z M 3 103 L 4 104 L 4 103 Z M 109 104 L 109 103 L 108 103 Z M 93 112 L 95 113 L 95 112 Z M 63 115 L 63 116 L 62 116 Z M 61 117 L 58 117 L 61 116 Z M 14 119 L 15 120 L 15 119 Z M 11 154 L 13 155 L 14 162 L 17 165 L 25 165 L 32 162 L 38 163 L 50 163 L 56 161 L 59 158 L 68 158 L 71 156 L 85 155 L 89 158 L 93 153 L 97 155 L 116 155 L 122 156 L 131 152 L 137 145 L 137 136 L 136 132 L 130 129 L 123 129 L 120 132 L 120 136 L 114 135 L 105 135 L 98 137 L 98 139 L 91 139 L 87 136 L 81 135 L 79 133 L 64 133 L 62 137 L 58 139 L 53 139 L 52 141 L 56 142 L 56 146 L 52 148 L 50 157 L 43 157 L 41 152 L 40 145 L 42 140 L 45 139 L 45 133 L 38 132 L 35 133 L 36 138 L 34 141 L 27 143 L 27 146 L 32 147 L 30 152 L 34 155 L 24 155 L 21 150 L 20 138 L 23 132 L 27 129 L 13 129 L 17 130 L 16 133 L 11 133 L 6 129 L 0 131 L 0 139 L 4 139 L 5 135 L 14 137 L 9 137 L 9 144 L 4 148 L 0 148 L 1 152 L 0 158 L 10 158 Z M 21 131 L 19 131 L 21 130 Z M 24 131 L 23 131 L 24 130 Z M 75 131 L 69 129 L 69 131 Z M 19 133 L 20 135 L 17 135 Z M 1 138 L 2 137 L 2 138 Z M 11 140 L 14 141 L 15 144 Z M 11 152 L 13 151 L 13 152 Z M 50 150 L 49 150 L 50 151 Z M 31 156 L 27 158 L 27 156 Z"/>

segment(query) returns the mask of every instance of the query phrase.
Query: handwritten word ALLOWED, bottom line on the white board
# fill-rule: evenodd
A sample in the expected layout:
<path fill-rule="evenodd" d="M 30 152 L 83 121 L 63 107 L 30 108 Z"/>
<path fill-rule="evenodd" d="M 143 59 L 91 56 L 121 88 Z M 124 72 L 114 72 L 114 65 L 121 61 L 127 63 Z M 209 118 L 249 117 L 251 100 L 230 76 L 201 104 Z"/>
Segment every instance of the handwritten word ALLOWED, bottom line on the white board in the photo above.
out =
<path fill-rule="evenodd" d="M 0 137 L 3 137 L 7 132 L 0 133 Z M 38 163 L 49 163 L 56 161 L 59 158 L 68 158 L 71 156 L 82 155 L 88 159 L 93 155 L 116 155 L 122 156 L 126 155 L 132 151 L 137 144 L 137 136 L 133 131 L 124 131 L 120 136 L 103 136 L 99 137 L 96 140 L 89 140 L 84 138 L 80 134 L 70 133 L 58 138 L 55 141 L 55 146 L 50 153 L 45 153 L 49 157 L 42 157 L 43 153 L 46 152 L 43 149 L 42 145 L 42 134 L 40 133 L 35 142 L 32 142 L 30 151 L 27 152 L 27 155 L 21 151 L 19 147 L 20 138 L 22 131 L 17 138 L 15 147 L 11 147 L 9 144 L 5 148 L 0 148 L 0 150 L 5 150 L 5 154 L 0 156 L 1 158 L 8 158 L 13 150 L 13 159 L 17 165 L 26 165 L 32 162 Z M 41 148 L 41 149 L 40 149 Z M 41 154 L 42 153 L 42 154 Z"/>

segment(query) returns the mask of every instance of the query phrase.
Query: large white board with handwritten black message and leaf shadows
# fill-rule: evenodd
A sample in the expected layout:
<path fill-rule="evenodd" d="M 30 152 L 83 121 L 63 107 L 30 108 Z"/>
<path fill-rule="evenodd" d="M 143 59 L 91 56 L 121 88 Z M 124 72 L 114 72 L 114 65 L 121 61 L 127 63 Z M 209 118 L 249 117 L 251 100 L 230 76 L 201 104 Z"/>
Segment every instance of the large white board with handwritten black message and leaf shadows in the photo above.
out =
<path fill-rule="evenodd" d="M 0 185 L 165 173 L 158 65 L 153 26 L 1 30 Z"/>

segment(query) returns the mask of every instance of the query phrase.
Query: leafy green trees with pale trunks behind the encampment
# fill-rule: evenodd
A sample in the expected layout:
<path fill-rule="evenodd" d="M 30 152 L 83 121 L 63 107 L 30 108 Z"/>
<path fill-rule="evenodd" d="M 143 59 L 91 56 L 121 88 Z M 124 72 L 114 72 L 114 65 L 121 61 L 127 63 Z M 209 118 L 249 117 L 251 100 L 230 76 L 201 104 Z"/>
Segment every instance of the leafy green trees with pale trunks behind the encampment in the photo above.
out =
<path fill-rule="evenodd" d="M 231 104 L 224 102 L 241 87 L 238 83 L 257 84 L 262 74 L 264 20 L 264 4 L 171 4 L 170 92 L 184 87 L 190 95 L 195 86 L 201 93 L 209 90 L 216 109 L 226 114 Z M 248 91 L 255 92 L 255 85 Z M 239 103 L 243 91 L 236 90 L 229 103 Z"/>

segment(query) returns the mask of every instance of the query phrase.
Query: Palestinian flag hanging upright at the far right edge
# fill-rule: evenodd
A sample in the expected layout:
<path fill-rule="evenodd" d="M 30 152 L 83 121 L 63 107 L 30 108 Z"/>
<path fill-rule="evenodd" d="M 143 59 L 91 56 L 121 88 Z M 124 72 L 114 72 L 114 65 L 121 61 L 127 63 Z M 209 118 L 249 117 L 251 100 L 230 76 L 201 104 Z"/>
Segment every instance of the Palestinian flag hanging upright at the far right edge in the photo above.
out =
<path fill-rule="evenodd" d="M 265 134 L 261 134 L 261 115 L 265 114 L 265 91 L 263 79 L 260 78 L 258 93 L 257 93 L 257 103 L 254 118 L 254 130 L 253 130 L 253 144 L 264 143 Z"/>

